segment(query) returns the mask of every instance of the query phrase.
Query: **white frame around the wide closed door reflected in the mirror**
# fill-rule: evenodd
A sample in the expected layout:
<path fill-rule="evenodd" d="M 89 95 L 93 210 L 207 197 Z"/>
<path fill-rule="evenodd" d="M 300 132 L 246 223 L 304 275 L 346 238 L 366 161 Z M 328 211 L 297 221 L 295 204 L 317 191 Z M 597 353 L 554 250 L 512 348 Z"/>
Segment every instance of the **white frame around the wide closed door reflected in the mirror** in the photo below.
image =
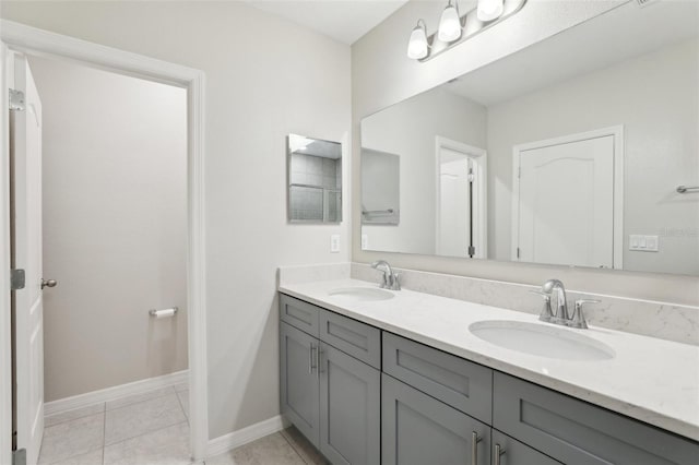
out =
<path fill-rule="evenodd" d="M 520 223 L 520 154 L 534 148 L 545 148 L 552 145 L 560 145 L 571 142 L 580 142 L 589 139 L 597 139 L 612 135 L 614 138 L 614 222 L 613 222 L 613 269 L 624 269 L 624 124 L 608 128 L 595 129 L 593 131 L 567 134 L 560 138 L 546 139 L 543 141 L 528 142 L 512 147 L 512 227 L 511 227 L 511 249 L 510 258 L 514 262 L 519 242 Z"/>

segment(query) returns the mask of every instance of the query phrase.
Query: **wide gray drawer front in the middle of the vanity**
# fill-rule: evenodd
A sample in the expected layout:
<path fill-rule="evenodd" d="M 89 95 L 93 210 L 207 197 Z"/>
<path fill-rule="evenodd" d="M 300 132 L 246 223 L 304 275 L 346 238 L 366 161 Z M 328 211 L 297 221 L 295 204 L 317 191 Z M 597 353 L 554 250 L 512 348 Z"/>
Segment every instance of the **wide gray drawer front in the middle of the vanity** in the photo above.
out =
<path fill-rule="evenodd" d="M 486 424 L 493 370 L 383 332 L 383 371 Z"/>

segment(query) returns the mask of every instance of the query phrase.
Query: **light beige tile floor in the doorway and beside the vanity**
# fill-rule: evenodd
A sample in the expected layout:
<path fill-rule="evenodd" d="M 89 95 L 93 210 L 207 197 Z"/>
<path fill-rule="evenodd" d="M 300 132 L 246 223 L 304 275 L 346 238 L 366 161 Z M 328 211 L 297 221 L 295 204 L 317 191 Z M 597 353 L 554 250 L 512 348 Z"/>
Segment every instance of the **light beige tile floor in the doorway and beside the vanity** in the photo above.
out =
<path fill-rule="evenodd" d="M 187 384 L 46 417 L 39 465 L 189 465 Z M 288 428 L 206 465 L 325 465 Z"/>

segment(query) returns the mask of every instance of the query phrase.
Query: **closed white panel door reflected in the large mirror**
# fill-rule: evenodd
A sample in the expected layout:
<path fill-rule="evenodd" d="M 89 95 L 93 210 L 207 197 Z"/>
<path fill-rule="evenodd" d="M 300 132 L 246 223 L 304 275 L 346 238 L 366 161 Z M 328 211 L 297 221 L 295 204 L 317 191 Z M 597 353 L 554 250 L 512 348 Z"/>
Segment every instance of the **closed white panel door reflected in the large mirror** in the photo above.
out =
<path fill-rule="evenodd" d="M 613 267 L 614 136 L 523 150 L 519 167 L 514 260 Z"/>

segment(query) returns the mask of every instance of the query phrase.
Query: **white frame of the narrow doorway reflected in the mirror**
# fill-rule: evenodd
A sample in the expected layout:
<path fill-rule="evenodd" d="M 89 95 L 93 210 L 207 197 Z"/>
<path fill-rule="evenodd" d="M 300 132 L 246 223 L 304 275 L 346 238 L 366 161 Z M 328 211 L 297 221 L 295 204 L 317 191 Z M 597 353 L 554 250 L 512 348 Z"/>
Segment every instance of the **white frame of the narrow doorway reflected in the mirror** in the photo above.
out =
<path fill-rule="evenodd" d="M 488 154 L 485 150 L 454 141 L 442 135 L 435 136 L 435 251 L 439 250 L 439 231 L 440 231 L 440 203 L 441 203 L 441 171 L 440 155 L 441 150 L 448 148 L 460 152 L 469 156 L 474 162 L 474 176 L 479 180 L 473 190 L 473 204 L 475 206 L 474 217 L 477 227 L 473 228 L 473 243 L 476 248 L 476 259 L 487 259 L 488 255 L 488 212 L 487 212 L 487 192 L 488 192 Z"/>

